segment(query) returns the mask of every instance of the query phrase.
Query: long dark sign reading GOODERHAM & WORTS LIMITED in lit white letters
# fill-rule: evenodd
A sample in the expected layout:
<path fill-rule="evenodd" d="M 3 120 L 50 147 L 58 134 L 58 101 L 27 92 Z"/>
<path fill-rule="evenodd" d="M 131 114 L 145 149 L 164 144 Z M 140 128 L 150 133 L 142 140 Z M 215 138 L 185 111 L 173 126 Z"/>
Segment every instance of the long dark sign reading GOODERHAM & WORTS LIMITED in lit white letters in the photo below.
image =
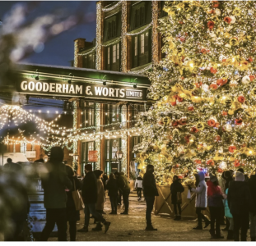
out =
<path fill-rule="evenodd" d="M 57 95 L 63 97 L 81 97 L 81 98 L 108 98 L 113 100 L 125 101 L 147 101 L 147 88 L 137 88 L 120 85 L 103 85 L 56 81 L 34 81 L 22 80 L 16 84 L 19 93 Z"/>

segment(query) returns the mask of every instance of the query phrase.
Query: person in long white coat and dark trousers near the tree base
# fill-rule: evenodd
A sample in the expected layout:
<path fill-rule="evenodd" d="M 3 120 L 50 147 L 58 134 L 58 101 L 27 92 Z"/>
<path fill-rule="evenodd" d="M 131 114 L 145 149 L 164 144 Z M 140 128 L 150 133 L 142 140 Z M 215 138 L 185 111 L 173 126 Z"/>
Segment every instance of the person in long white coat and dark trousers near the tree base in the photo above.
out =
<path fill-rule="evenodd" d="M 195 175 L 196 177 L 196 188 L 191 188 L 190 191 L 196 193 L 196 213 L 198 215 L 198 225 L 194 227 L 194 230 L 202 230 L 202 219 L 205 222 L 204 228 L 210 225 L 210 221 L 206 216 L 202 214 L 202 210 L 206 210 L 207 207 L 207 185 L 205 183 L 205 176 L 202 171 Z"/>

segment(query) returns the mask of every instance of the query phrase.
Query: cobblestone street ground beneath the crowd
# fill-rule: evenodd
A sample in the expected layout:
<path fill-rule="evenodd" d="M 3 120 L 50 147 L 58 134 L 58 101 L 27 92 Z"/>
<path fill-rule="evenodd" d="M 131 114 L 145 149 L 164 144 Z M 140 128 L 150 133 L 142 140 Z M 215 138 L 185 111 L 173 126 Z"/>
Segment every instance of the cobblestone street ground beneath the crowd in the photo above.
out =
<path fill-rule="evenodd" d="M 109 199 L 105 203 L 105 218 L 111 222 L 109 231 L 105 235 L 104 231 L 91 231 L 95 225 L 93 219 L 90 220 L 89 232 L 77 232 L 77 241 L 216 241 L 210 239 L 209 229 L 192 230 L 197 225 L 196 221 L 183 219 L 182 221 L 174 221 L 168 216 L 152 215 L 152 224 L 157 231 L 146 231 L 146 203 L 142 198 L 141 202 L 137 202 L 135 192 L 130 195 L 130 209 L 128 215 L 109 215 L 110 204 Z M 123 208 L 118 207 L 118 213 L 123 212 Z M 81 221 L 77 222 L 77 229 L 83 226 L 84 214 L 81 212 Z M 221 226 L 224 228 L 224 226 Z M 225 235 L 226 231 L 222 232 Z M 248 232 L 249 235 L 249 232 Z M 56 241 L 57 238 L 50 238 L 49 241 Z M 226 239 L 218 239 L 226 241 Z M 249 238 L 248 238 L 249 240 Z"/>

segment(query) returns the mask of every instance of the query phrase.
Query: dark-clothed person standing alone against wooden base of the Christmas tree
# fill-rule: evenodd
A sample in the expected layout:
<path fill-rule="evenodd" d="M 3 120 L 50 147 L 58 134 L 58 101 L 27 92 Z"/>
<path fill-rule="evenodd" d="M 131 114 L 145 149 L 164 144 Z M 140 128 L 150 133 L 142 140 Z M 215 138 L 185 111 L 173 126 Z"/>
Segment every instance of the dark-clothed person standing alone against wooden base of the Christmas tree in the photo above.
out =
<path fill-rule="evenodd" d="M 171 193 L 171 203 L 174 205 L 175 211 L 175 221 L 181 220 L 181 193 L 184 192 L 184 187 L 180 184 L 179 177 L 174 175 L 173 183 L 170 185 L 170 193 Z M 177 194 L 180 194 L 180 199 L 178 199 Z M 178 207 L 178 212 L 177 212 Z"/>

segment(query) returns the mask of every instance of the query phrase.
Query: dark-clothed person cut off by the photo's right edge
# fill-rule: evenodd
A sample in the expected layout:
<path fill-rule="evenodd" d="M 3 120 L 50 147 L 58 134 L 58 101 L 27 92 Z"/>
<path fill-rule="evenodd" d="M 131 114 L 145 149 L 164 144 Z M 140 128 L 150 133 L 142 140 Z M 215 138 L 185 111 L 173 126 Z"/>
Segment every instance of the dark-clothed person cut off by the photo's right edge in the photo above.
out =
<path fill-rule="evenodd" d="M 252 197 L 252 209 L 249 212 L 249 232 L 251 241 L 256 239 L 256 175 L 251 175 L 249 179 L 249 190 Z"/>

